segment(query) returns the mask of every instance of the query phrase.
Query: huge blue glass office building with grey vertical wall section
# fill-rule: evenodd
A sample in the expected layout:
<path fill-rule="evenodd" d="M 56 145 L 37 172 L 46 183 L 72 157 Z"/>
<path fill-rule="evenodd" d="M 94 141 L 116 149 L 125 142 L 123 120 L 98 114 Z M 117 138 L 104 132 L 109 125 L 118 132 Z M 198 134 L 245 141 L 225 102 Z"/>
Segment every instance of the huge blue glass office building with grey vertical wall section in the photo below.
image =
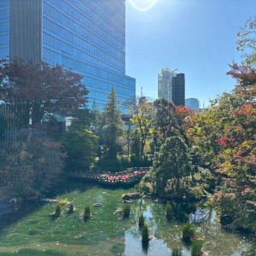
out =
<path fill-rule="evenodd" d="M 1 0 L 0 58 L 9 55 L 73 69 L 101 109 L 112 86 L 120 103 L 136 93 L 125 75 L 125 0 Z"/>

